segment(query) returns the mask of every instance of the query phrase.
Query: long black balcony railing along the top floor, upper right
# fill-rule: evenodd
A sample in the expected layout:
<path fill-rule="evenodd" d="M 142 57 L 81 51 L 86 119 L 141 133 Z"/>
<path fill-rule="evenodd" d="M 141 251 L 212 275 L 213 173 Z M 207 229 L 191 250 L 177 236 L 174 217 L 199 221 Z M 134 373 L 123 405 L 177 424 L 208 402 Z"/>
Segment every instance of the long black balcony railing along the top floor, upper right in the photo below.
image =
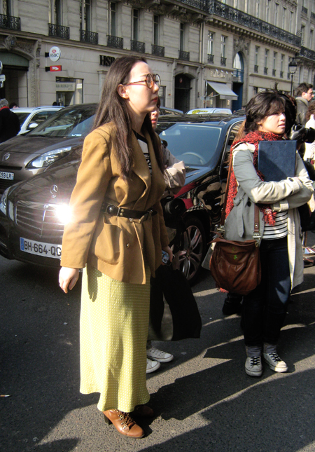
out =
<path fill-rule="evenodd" d="M 239 9 L 232 8 L 223 4 L 219 0 L 180 0 L 181 3 L 193 6 L 193 8 L 200 9 L 207 14 L 218 15 L 225 20 L 231 22 L 237 22 L 239 25 L 244 25 L 250 29 L 254 29 L 258 33 L 264 33 L 268 36 L 272 36 L 274 39 L 285 41 L 293 46 L 300 46 L 300 36 L 286 32 L 285 30 L 274 27 L 274 25 L 268 24 L 263 20 L 255 18 L 253 15 L 243 13 Z"/>

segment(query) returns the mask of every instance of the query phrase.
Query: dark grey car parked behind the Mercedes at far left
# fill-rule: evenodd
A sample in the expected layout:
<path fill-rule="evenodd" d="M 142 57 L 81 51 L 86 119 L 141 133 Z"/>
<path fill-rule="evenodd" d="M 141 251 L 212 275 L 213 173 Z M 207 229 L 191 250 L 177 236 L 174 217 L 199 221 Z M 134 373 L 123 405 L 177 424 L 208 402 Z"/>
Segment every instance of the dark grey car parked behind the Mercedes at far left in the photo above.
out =
<path fill-rule="evenodd" d="M 0 193 L 48 167 L 73 160 L 92 128 L 97 104 L 59 109 L 36 129 L 0 144 Z"/>

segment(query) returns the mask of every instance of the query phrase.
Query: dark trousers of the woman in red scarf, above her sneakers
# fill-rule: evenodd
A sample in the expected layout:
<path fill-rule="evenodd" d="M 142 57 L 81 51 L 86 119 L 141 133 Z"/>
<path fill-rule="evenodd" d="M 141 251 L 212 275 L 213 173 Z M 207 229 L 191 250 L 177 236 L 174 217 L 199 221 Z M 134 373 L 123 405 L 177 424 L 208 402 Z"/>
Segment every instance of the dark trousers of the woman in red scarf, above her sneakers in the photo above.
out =
<path fill-rule="evenodd" d="M 244 339 L 249 347 L 278 342 L 291 285 L 287 238 L 262 240 L 260 263 L 260 285 L 243 300 Z"/>

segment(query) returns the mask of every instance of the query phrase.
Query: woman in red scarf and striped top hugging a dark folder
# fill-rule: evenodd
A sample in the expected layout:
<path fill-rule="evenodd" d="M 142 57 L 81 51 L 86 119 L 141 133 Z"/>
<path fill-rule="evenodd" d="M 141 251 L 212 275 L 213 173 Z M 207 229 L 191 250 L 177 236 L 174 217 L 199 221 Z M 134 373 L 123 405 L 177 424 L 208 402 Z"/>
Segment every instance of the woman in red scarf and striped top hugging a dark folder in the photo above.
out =
<path fill-rule="evenodd" d="M 276 345 L 286 317 L 290 291 L 303 280 L 302 232 L 297 207 L 311 198 L 313 186 L 297 153 L 295 177 L 265 182 L 258 170 L 258 144 L 283 139 L 285 100 L 275 91 L 255 95 L 246 105 L 245 136 L 232 147 L 225 238 L 252 240 L 255 204 L 260 210 L 260 285 L 244 296 L 242 320 L 246 374 L 270 369 L 286 372 Z"/>

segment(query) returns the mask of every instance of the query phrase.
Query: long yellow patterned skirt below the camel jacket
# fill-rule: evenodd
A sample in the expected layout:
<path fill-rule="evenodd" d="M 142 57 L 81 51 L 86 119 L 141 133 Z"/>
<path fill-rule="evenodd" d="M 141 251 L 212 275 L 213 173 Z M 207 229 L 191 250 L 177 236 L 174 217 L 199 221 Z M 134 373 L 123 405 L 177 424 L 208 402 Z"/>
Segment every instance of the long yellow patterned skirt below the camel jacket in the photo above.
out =
<path fill-rule="evenodd" d="M 146 388 L 146 340 L 150 271 L 146 285 L 83 270 L 80 312 L 80 392 L 99 392 L 100 411 L 130 412 L 150 399 Z"/>

